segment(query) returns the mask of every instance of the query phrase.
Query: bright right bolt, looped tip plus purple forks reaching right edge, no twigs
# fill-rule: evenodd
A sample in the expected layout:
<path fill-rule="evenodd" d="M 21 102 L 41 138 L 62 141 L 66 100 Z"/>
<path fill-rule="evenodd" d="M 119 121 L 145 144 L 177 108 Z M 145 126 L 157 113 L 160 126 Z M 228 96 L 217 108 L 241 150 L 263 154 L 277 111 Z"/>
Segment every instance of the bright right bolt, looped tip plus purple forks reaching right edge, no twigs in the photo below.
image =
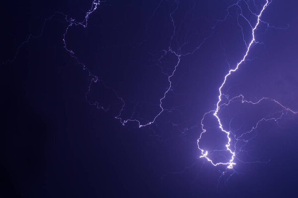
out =
<path fill-rule="evenodd" d="M 226 131 L 226 130 L 224 130 L 224 128 L 223 128 L 223 124 L 222 124 L 222 121 L 221 121 L 221 119 L 220 119 L 220 117 L 219 117 L 219 115 L 218 115 L 218 113 L 219 113 L 219 110 L 220 110 L 220 108 L 221 108 L 221 106 L 222 105 L 228 105 L 229 104 L 229 102 L 230 101 L 232 101 L 233 99 L 235 99 L 235 98 L 242 98 L 242 103 L 243 102 L 247 102 L 247 103 L 251 103 L 251 104 L 256 104 L 256 103 L 259 103 L 261 100 L 264 100 L 264 99 L 268 99 L 268 98 L 263 98 L 263 99 L 260 99 L 259 101 L 257 101 L 257 102 L 251 102 L 251 101 L 247 101 L 247 100 L 244 100 L 243 98 L 243 96 L 242 95 L 240 95 L 240 96 L 238 96 L 238 97 L 234 97 L 233 99 L 230 99 L 229 101 L 228 101 L 228 103 L 224 103 L 224 104 L 221 104 L 221 102 L 222 102 L 222 96 L 223 96 L 223 94 L 222 94 L 222 88 L 224 87 L 224 84 L 225 84 L 225 82 L 226 82 L 226 79 L 227 79 L 227 77 L 228 76 L 230 76 L 231 74 L 232 74 L 232 72 L 235 72 L 240 66 L 241 66 L 241 64 L 245 61 L 245 59 L 246 59 L 246 57 L 247 57 L 247 55 L 248 55 L 248 52 L 249 52 L 249 50 L 251 49 L 251 47 L 252 47 L 252 45 L 253 44 L 255 44 L 255 43 L 257 43 L 256 41 L 255 41 L 255 30 L 257 29 L 257 27 L 258 27 L 258 25 L 259 25 L 259 23 L 260 23 L 260 18 L 261 18 L 261 16 L 262 16 L 262 13 L 264 12 L 264 10 L 266 9 L 266 7 L 269 5 L 269 1 L 268 0 L 266 0 L 266 3 L 263 5 L 263 7 L 262 7 L 262 10 L 260 11 L 260 13 L 257 15 L 257 14 L 255 14 L 255 16 L 257 17 L 257 22 L 256 22 L 256 24 L 255 24 L 255 26 L 253 27 L 253 26 L 251 26 L 251 28 L 252 28 L 252 39 L 251 39 L 251 41 L 250 41 L 250 43 L 249 43 L 249 45 L 247 46 L 247 49 L 246 49 L 246 53 L 245 53 L 245 55 L 243 56 L 243 58 L 241 59 L 241 61 L 236 65 L 236 67 L 234 68 L 234 69 L 230 69 L 229 71 L 228 71 L 228 73 L 224 76 L 224 82 L 223 82 L 223 84 L 220 86 L 220 88 L 219 88 L 219 100 L 218 100 L 218 102 L 217 102 L 217 105 L 216 105 L 216 109 L 215 110 L 212 110 L 212 111 L 209 111 L 209 112 L 207 112 L 207 113 L 205 113 L 204 114 L 204 116 L 203 116 L 203 119 L 202 119 L 202 121 L 201 121 L 201 125 L 202 125 L 202 130 L 203 130 L 203 132 L 201 133 L 201 135 L 200 135 L 200 138 L 198 139 L 198 148 L 201 150 L 201 156 L 200 156 L 200 158 L 206 158 L 209 162 L 211 162 L 214 166 L 217 166 L 217 165 L 220 165 L 220 164 L 222 164 L 222 165 L 227 165 L 227 168 L 229 168 L 229 169 L 231 169 L 231 168 L 233 168 L 233 165 L 235 165 L 235 162 L 234 162 L 234 159 L 235 159 L 235 155 L 236 155 L 236 153 L 235 153 L 235 151 L 233 151 L 231 148 L 230 148 L 230 146 L 231 146 L 231 138 L 230 138 L 230 131 Z M 261 21 L 262 22 L 262 21 Z M 292 113 L 298 113 L 298 112 L 295 112 L 295 111 L 293 111 L 293 110 L 291 110 L 291 109 L 289 109 L 289 108 L 287 108 L 287 107 L 285 107 L 285 106 L 283 106 L 281 103 L 279 103 L 278 101 L 276 101 L 276 100 L 274 100 L 274 99 L 270 99 L 270 100 L 272 100 L 272 101 L 274 101 L 275 103 L 277 103 L 278 105 L 280 105 L 282 108 L 284 108 L 286 111 L 291 111 Z M 231 154 L 231 158 L 229 159 L 229 161 L 228 162 L 218 162 L 218 163 L 215 163 L 212 159 L 210 159 L 209 157 L 208 157 L 208 150 L 204 150 L 204 149 L 202 149 L 202 148 L 200 148 L 200 146 L 199 146 L 199 143 L 200 143 L 200 140 L 201 140 L 201 137 L 202 137 L 202 134 L 204 134 L 204 133 L 206 133 L 206 129 L 204 129 L 204 124 L 203 124 L 203 120 L 204 120 L 204 118 L 205 118 L 205 115 L 207 115 L 207 114 L 209 114 L 209 113 L 212 113 L 213 112 L 213 115 L 217 118 L 217 120 L 218 120 L 218 123 L 219 123 L 219 128 L 221 129 L 221 131 L 223 132 L 223 133 L 225 133 L 226 134 L 226 137 L 227 137 L 227 144 L 225 145 L 225 147 L 226 147 L 226 151 L 228 151 L 230 154 Z M 282 114 L 282 115 L 284 115 L 284 113 Z M 281 115 L 281 116 L 282 116 Z M 281 117 L 280 117 L 281 118 Z M 275 121 L 277 120 L 277 119 L 280 119 L 280 118 L 273 118 Z M 267 120 L 270 120 L 270 119 L 262 119 L 262 120 L 260 120 L 260 121 L 263 121 L 263 120 L 265 120 L 265 121 L 267 121 Z M 259 122 L 260 122 L 259 121 Z M 259 124 L 259 122 L 257 123 L 257 125 Z M 257 125 L 253 128 L 253 129 L 255 129 L 256 127 L 257 127 Z M 252 129 L 252 130 L 253 130 Z M 250 131 L 251 132 L 251 131 Z M 247 133 L 247 132 L 246 132 Z M 243 135 L 243 134 L 242 134 Z M 242 136 L 241 135 L 241 136 Z M 240 137 L 241 137 L 240 136 Z"/>

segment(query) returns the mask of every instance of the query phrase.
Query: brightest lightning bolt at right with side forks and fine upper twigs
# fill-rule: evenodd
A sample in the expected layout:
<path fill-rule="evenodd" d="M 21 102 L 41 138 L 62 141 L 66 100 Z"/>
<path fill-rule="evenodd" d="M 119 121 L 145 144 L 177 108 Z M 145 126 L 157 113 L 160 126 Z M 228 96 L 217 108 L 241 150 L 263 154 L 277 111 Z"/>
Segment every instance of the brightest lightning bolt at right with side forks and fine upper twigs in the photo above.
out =
<path fill-rule="evenodd" d="M 239 3 L 239 1 L 238 1 L 237 3 Z M 233 4 L 233 5 L 237 5 L 237 3 L 236 3 L 236 4 Z M 282 104 L 281 104 L 280 102 L 278 102 L 277 100 L 275 100 L 275 99 L 270 99 L 270 98 L 266 98 L 266 97 L 264 97 L 264 98 L 262 98 L 262 99 L 260 99 L 260 100 L 258 100 L 258 101 L 256 101 L 256 102 L 252 102 L 252 101 L 245 100 L 244 97 L 243 97 L 243 95 L 239 95 L 239 96 L 237 96 L 237 97 L 234 97 L 234 98 L 232 98 L 232 99 L 229 99 L 227 103 L 223 103 L 223 104 L 221 104 L 223 96 L 226 97 L 226 96 L 222 93 L 222 89 L 223 89 L 223 87 L 224 87 L 224 85 L 225 85 L 225 82 L 226 82 L 227 78 L 228 78 L 233 72 L 237 71 L 238 68 L 242 65 L 242 63 L 245 62 L 246 57 L 247 57 L 247 55 L 248 55 L 248 53 L 249 53 L 251 47 L 253 46 L 253 44 L 258 43 L 258 42 L 256 42 L 256 40 L 255 40 L 255 31 L 256 31 L 256 29 L 258 28 L 260 22 L 265 23 L 265 24 L 267 25 L 267 27 L 270 27 L 270 25 L 269 25 L 268 23 L 266 23 L 266 22 L 264 22 L 264 21 L 262 21 L 262 20 L 260 19 L 261 16 L 262 16 L 262 13 L 265 11 L 265 9 L 267 8 L 267 6 L 268 6 L 270 3 L 271 3 L 271 1 L 266 0 L 266 3 L 262 6 L 262 9 L 261 9 L 261 11 L 259 12 L 259 14 L 254 14 L 254 15 L 257 17 L 257 22 L 256 22 L 256 24 L 254 25 L 254 27 L 251 26 L 250 23 L 249 23 L 249 21 L 248 21 L 243 15 L 240 14 L 241 16 L 243 16 L 243 18 L 249 23 L 249 25 L 250 25 L 251 28 L 252 28 L 252 34 L 251 34 L 252 39 L 251 39 L 249 45 L 247 45 L 246 42 L 244 41 L 244 42 L 245 42 L 245 45 L 246 45 L 246 47 L 247 47 L 244 56 L 243 56 L 242 59 L 237 63 L 236 67 L 235 67 L 234 69 L 230 69 L 230 70 L 228 71 L 228 73 L 224 76 L 224 81 L 223 81 L 223 83 L 221 84 L 221 86 L 220 86 L 220 88 L 219 88 L 219 96 L 218 96 L 218 102 L 217 102 L 217 104 L 216 104 L 216 109 L 215 109 L 215 110 L 211 110 L 211 111 L 209 111 L 209 112 L 206 112 L 206 113 L 204 114 L 202 120 L 201 120 L 201 126 L 202 126 L 202 130 L 203 130 L 203 131 L 202 131 L 202 133 L 200 134 L 200 137 L 199 137 L 199 139 L 198 139 L 198 141 L 197 141 L 198 148 L 200 149 L 201 154 L 202 154 L 202 155 L 200 156 L 200 158 L 205 158 L 205 159 L 207 159 L 207 160 L 208 160 L 209 162 L 211 162 L 211 164 L 213 164 L 214 166 L 218 166 L 218 165 L 227 165 L 227 168 L 228 168 L 228 169 L 232 169 L 232 168 L 233 168 L 233 165 L 236 164 L 236 163 L 234 162 L 234 160 L 235 160 L 235 158 L 236 158 L 236 154 L 238 153 L 238 152 L 237 152 L 237 153 L 235 152 L 235 149 L 232 150 L 232 148 L 231 148 L 231 137 L 230 137 L 230 136 L 231 136 L 231 132 L 230 132 L 230 131 L 227 131 L 227 130 L 224 130 L 222 121 L 221 121 L 221 119 L 220 119 L 220 117 L 219 117 L 219 111 L 220 111 L 221 107 L 229 105 L 230 102 L 235 101 L 235 99 L 241 99 L 241 102 L 242 102 L 242 103 L 250 103 L 250 104 L 258 104 L 258 103 L 260 103 L 260 102 L 263 101 L 263 100 L 271 100 L 271 101 L 273 101 L 274 103 L 278 104 L 280 107 L 283 108 L 283 111 L 282 111 L 282 113 L 281 113 L 281 115 L 280 115 L 279 117 L 277 117 L 277 118 L 262 118 L 261 120 L 259 120 L 259 121 L 257 122 L 257 124 L 256 124 L 250 131 L 244 132 L 244 133 L 242 133 L 239 137 L 236 137 L 236 138 L 235 138 L 235 140 L 236 140 L 236 143 L 235 143 L 235 144 L 237 144 L 238 141 L 245 141 L 246 144 L 247 144 L 247 142 L 248 142 L 249 140 L 244 140 L 244 139 L 241 139 L 241 138 L 242 138 L 245 134 L 249 134 L 249 133 L 251 133 L 254 129 L 256 129 L 256 128 L 258 127 L 259 123 L 261 123 L 261 122 L 263 122 L 263 121 L 269 121 L 269 120 L 277 121 L 277 120 L 281 119 L 281 118 L 283 117 L 283 115 L 285 115 L 285 114 L 286 114 L 287 112 L 289 112 L 289 111 L 290 111 L 291 113 L 293 113 L 293 114 L 297 114 L 297 113 L 298 113 L 297 111 L 293 111 L 293 110 L 291 110 L 290 108 L 287 108 L 286 106 L 282 105 Z M 231 6 L 232 6 L 232 5 L 231 5 Z M 237 5 L 237 6 L 239 6 L 239 5 Z M 251 11 L 251 10 L 250 10 L 250 11 Z M 251 12 L 252 12 L 252 11 L 251 11 Z M 252 12 L 252 13 L 253 13 L 253 12 Z M 242 29 L 242 28 L 241 28 L 241 29 Z M 243 36 L 243 32 L 242 32 L 242 36 Z M 244 40 L 244 39 L 243 39 L 243 40 Z M 209 114 L 209 113 L 213 113 L 213 115 L 215 116 L 215 118 L 217 119 L 217 121 L 218 121 L 218 123 L 219 123 L 219 128 L 221 129 L 221 131 L 222 131 L 224 134 L 226 134 L 227 144 L 225 145 L 225 148 L 226 148 L 225 151 L 228 151 L 228 152 L 231 154 L 231 157 L 230 157 L 230 159 L 229 159 L 227 162 L 218 162 L 218 163 L 215 163 L 212 159 L 210 159 L 210 157 L 208 157 L 208 150 L 204 150 L 204 149 L 200 148 L 200 141 L 201 141 L 202 135 L 203 135 L 204 133 L 206 133 L 206 129 L 204 129 L 203 121 L 204 121 L 204 119 L 205 119 L 205 116 L 206 116 L 207 114 Z M 243 147 L 243 146 L 242 146 L 242 147 Z M 241 147 L 241 148 L 242 148 L 242 147 Z M 241 150 L 241 148 L 240 148 L 239 150 Z M 214 150 L 213 150 L 213 151 L 214 151 Z M 241 160 L 239 160 L 239 161 L 241 161 Z M 243 162 L 243 161 L 242 161 L 242 162 Z M 224 172 L 224 173 L 225 173 L 225 172 Z M 224 174 L 224 173 L 223 173 L 223 174 Z"/>

